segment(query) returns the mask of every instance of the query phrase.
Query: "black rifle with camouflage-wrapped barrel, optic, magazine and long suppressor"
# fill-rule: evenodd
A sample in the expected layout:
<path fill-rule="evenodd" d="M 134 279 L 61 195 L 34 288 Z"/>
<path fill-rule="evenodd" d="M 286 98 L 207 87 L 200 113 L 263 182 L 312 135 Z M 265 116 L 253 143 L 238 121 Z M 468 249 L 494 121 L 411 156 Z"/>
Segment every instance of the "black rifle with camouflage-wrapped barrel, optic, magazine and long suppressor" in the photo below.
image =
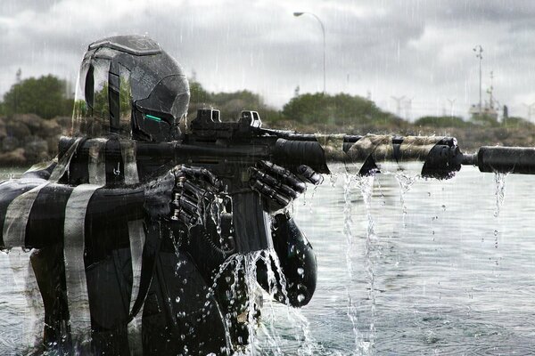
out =
<path fill-rule="evenodd" d="M 60 158 L 74 140 L 62 137 Z M 102 142 L 88 139 L 79 143 L 79 161 L 90 155 L 95 140 Z M 106 174 L 109 161 L 118 162 L 118 166 L 122 162 L 120 146 L 120 142 L 111 140 L 106 143 Z M 256 111 L 242 111 L 237 121 L 222 122 L 219 110 L 200 109 L 191 122 L 191 132 L 179 141 L 135 142 L 134 150 L 140 176 L 159 166 L 180 164 L 204 167 L 216 174 L 232 198 L 239 253 L 273 247 L 269 216 L 263 211 L 259 193 L 249 185 L 249 168 L 259 160 L 294 173 L 299 166 L 307 165 L 317 173 L 331 174 L 329 166 L 337 162 L 347 172 L 366 175 L 380 172 L 385 162 L 402 166 L 420 161 L 424 162 L 421 175 L 438 179 L 453 176 L 463 165 L 478 166 L 481 172 L 535 174 L 535 149 L 531 148 L 481 147 L 475 154 L 464 154 L 453 137 L 298 134 L 262 128 Z M 77 169 L 71 164 L 70 183 L 76 181 Z"/>

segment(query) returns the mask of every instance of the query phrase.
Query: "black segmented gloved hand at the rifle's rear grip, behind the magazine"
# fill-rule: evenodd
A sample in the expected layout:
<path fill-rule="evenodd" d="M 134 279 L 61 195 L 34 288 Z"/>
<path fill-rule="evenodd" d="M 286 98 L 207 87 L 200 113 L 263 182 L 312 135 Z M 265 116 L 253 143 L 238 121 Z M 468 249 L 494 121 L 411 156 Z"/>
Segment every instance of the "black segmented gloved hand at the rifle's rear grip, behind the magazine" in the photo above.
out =
<path fill-rule="evenodd" d="M 175 175 L 171 219 L 188 228 L 203 223 L 210 204 L 223 190 L 222 182 L 206 168 L 182 165 L 171 172 Z"/>

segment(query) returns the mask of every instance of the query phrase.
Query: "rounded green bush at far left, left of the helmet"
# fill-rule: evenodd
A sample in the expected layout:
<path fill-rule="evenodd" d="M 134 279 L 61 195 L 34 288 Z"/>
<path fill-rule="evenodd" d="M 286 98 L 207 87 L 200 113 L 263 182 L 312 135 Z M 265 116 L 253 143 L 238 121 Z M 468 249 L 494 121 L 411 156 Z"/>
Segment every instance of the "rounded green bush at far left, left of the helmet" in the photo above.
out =
<path fill-rule="evenodd" d="M 29 77 L 4 93 L 0 109 L 8 116 L 27 113 L 43 118 L 70 116 L 73 101 L 66 97 L 65 92 L 65 81 L 58 77 Z"/>

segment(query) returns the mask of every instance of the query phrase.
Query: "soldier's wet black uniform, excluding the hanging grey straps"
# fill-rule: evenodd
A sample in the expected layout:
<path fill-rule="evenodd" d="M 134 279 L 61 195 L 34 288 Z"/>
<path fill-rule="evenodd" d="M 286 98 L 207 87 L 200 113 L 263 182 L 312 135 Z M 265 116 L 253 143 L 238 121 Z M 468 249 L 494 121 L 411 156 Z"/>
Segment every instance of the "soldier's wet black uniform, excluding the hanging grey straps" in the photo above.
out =
<path fill-rule="evenodd" d="M 132 295 L 135 281 L 129 235 L 132 230 L 128 224 L 133 222 L 141 222 L 144 228 L 139 284 L 140 289 L 148 290 L 138 296 L 143 301 L 146 295 L 144 354 L 224 354 L 231 353 L 236 344 L 247 343 L 247 327 L 237 320 L 247 296 L 241 295 L 239 303 L 230 303 L 225 292 L 235 281 L 229 283 L 225 278 L 218 279 L 215 291 L 210 290 L 220 264 L 231 255 L 232 248 L 220 245 L 218 234 L 203 226 L 194 227 L 188 235 L 180 223 L 154 219 L 151 207 L 155 203 L 147 203 L 147 185 L 120 184 L 122 177 L 109 186 L 95 189 L 88 199 L 85 219 L 78 221 L 84 225 L 85 244 L 83 250 L 78 249 L 78 255 L 83 256 L 86 271 L 92 342 L 86 344 L 83 335 L 71 335 L 70 316 L 78 311 L 69 309 L 64 254 L 66 248 L 76 247 L 70 247 L 65 240 L 65 215 L 76 187 L 63 184 L 62 180 L 47 181 L 54 166 L 0 184 L 0 231 L 4 234 L 10 233 L 4 223 L 9 223 L 5 215 L 13 201 L 36 187 L 39 189 L 30 206 L 20 246 L 37 249 L 31 255 L 31 263 L 45 303 L 46 347 L 57 347 L 64 352 L 90 348 L 94 354 L 130 354 L 128 322 L 132 317 L 132 298 L 136 295 Z M 78 187 L 84 185 L 88 184 Z M 150 214 L 147 209 L 151 210 Z M 228 235 L 226 221 L 224 216 L 224 236 Z M 2 236 L 0 245 L 12 247 L 8 245 L 12 240 Z M 309 243 L 285 214 L 276 215 L 274 242 L 288 281 L 290 300 L 283 302 L 308 303 L 316 277 L 316 260 Z M 300 267 L 307 272 L 298 274 Z M 259 265 L 259 282 L 268 287 L 263 265 Z M 243 281 L 238 286 L 243 290 Z M 300 299 L 299 295 L 306 295 L 306 299 Z M 231 330 L 227 318 L 232 319 Z"/>

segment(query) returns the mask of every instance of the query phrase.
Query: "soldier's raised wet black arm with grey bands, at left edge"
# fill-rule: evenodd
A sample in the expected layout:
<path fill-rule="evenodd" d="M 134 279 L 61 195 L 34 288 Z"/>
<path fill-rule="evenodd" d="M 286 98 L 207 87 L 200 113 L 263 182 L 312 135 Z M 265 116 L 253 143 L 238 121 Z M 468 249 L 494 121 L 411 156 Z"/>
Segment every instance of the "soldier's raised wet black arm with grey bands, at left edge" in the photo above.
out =
<path fill-rule="evenodd" d="M 65 211 L 75 208 L 73 194 L 78 194 L 80 187 L 74 191 L 74 187 L 39 178 L 0 184 L 0 248 L 38 248 L 62 243 Z M 99 228 L 144 217 L 144 189 L 97 189 L 90 196 L 86 210 L 77 214 L 85 214 L 78 223 L 85 222 L 86 236 L 98 236 L 95 230 Z M 94 222 L 99 222 L 98 226 Z"/>

